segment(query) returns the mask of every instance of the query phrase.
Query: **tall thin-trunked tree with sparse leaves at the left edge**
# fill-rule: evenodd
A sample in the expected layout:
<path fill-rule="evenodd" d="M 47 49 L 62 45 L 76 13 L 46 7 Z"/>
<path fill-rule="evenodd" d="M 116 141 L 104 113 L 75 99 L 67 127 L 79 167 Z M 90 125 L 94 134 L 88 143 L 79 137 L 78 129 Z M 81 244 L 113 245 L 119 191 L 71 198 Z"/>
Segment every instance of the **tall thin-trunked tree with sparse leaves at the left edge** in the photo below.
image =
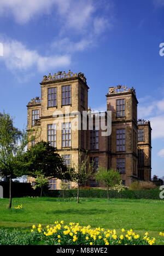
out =
<path fill-rule="evenodd" d="M 0 175 L 9 180 L 9 209 L 11 208 L 11 183 L 12 179 L 21 177 L 22 155 L 26 151 L 27 144 L 33 140 L 33 130 L 27 135 L 24 130 L 20 131 L 13 125 L 13 118 L 3 112 L 0 114 Z"/>

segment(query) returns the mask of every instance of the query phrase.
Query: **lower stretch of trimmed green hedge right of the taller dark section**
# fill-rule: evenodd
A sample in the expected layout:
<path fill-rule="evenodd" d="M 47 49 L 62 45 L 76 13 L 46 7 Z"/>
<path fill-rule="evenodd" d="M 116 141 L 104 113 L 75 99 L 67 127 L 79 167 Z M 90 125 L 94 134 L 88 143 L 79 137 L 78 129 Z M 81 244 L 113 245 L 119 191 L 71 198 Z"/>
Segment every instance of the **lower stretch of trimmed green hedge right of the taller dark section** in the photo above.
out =
<path fill-rule="evenodd" d="M 118 193 L 116 190 L 109 190 L 110 198 L 132 198 L 132 199 L 161 199 L 160 190 L 125 190 Z M 77 190 L 45 190 L 44 196 L 49 197 L 77 197 Z M 107 198 L 107 190 L 101 189 L 80 189 L 80 197 Z"/>

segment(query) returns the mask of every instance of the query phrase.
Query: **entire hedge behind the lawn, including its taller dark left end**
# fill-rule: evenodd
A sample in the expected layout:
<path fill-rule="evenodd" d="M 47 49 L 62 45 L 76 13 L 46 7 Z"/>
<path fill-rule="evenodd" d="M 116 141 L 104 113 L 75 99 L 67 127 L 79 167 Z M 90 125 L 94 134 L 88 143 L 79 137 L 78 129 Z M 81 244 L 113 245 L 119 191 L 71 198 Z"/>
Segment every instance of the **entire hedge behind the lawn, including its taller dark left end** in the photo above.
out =
<path fill-rule="evenodd" d="M 1 181 L 0 185 L 3 186 L 3 197 L 9 197 L 9 183 Z M 161 190 L 125 190 L 118 193 L 116 190 L 109 190 L 110 198 L 132 198 L 132 199 L 155 199 L 160 200 Z M 33 189 L 30 183 L 12 183 L 12 197 L 23 197 L 23 196 L 40 196 L 40 189 Z M 49 197 L 77 197 L 77 190 L 49 190 L 47 187 L 43 190 L 43 196 Z M 91 198 L 107 198 L 106 189 L 80 189 L 80 197 L 91 197 Z"/>

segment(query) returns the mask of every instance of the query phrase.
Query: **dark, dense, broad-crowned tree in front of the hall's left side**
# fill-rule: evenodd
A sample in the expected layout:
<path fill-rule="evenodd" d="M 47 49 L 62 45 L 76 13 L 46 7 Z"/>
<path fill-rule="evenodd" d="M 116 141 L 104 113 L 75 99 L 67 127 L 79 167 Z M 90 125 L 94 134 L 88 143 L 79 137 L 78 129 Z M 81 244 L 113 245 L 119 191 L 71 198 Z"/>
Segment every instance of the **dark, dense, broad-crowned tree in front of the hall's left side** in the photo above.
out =
<path fill-rule="evenodd" d="M 44 174 L 48 178 L 70 179 L 71 169 L 63 164 L 63 158 L 55 152 L 49 142 L 40 141 L 24 154 L 24 169 L 27 175 L 37 178 Z"/>

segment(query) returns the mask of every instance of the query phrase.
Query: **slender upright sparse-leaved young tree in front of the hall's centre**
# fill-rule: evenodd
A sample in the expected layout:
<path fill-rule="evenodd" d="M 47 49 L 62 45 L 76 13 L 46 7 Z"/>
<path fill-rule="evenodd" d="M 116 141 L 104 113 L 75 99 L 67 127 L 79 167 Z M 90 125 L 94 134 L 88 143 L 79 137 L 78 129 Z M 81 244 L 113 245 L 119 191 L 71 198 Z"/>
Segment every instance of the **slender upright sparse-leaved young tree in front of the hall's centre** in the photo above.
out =
<path fill-rule="evenodd" d="M 71 162 L 71 166 L 73 171 L 71 172 L 71 180 L 77 183 L 77 203 L 79 203 L 79 191 L 80 191 L 80 186 L 83 186 L 86 181 L 90 178 L 91 176 L 91 168 L 92 164 L 89 164 L 89 167 L 87 168 L 87 163 L 89 160 L 89 157 L 84 155 L 84 153 L 81 153 L 79 151 L 78 154 L 78 163 L 74 163 L 73 161 Z"/>

